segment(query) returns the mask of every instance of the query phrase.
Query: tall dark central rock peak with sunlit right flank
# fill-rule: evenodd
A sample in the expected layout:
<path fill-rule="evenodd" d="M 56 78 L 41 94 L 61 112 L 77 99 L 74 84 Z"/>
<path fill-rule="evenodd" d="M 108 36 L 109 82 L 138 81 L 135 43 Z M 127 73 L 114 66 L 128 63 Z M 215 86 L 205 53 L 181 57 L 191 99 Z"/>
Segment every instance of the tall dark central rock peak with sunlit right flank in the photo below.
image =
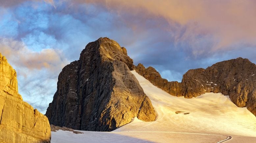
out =
<path fill-rule="evenodd" d="M 130 72 L 125 48 L 109 38 L 90 42 L 80 59 L 65 66 L 46 111 L 51 124 L 76 130 L 112 131 L 133 117 L 154 121 L 155 111 Z"/>

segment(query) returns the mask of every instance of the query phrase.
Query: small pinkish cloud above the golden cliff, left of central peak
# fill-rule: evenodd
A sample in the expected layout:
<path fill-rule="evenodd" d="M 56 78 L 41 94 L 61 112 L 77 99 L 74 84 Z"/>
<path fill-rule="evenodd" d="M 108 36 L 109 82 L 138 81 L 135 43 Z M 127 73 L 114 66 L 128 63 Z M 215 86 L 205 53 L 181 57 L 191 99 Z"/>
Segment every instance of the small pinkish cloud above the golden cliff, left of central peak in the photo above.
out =
<path fill-rule="evenodd" d="M 0 52 L 13 64 L 29 70 L 48 69 L 59 72 L 68 63 L 60 50 L 31 51 L 22 42 L 6 38 L 0 40 L 0 47 Z"/>

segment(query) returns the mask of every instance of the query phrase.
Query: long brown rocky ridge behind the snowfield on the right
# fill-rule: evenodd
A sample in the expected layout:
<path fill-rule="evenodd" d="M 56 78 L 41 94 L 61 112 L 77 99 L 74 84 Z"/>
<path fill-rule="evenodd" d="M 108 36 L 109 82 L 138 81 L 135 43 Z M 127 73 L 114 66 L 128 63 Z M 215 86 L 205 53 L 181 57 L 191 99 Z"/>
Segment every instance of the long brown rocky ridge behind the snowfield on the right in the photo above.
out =
<path fill-rule="evenodd" d="M 206 92 L 221 92 L 229 95 L 238 107 L 247 107 L 256 115 L 256 65 L 248 59 L 237 58 L 207 69 L 189 70 L 181 83 L 168 82 L 154 68 L 142 64 L 136 67 L 136 72 L 171 95 L 192 98 Z"/>

